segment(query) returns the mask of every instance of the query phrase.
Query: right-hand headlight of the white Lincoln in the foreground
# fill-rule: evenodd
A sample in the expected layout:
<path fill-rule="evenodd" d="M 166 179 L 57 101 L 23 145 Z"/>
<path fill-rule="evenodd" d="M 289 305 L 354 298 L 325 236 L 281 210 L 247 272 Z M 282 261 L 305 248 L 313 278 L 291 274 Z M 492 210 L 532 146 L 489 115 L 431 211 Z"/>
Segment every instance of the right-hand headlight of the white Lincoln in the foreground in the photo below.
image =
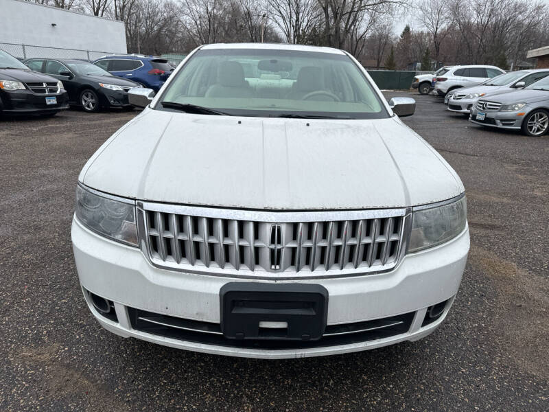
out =
<path fill-rule="evenodd" d="M 465 229 L 466 222 L 465 196 L 447 205 L 414 210 L 408 252 L 421 251 L 455 238 Z"/>

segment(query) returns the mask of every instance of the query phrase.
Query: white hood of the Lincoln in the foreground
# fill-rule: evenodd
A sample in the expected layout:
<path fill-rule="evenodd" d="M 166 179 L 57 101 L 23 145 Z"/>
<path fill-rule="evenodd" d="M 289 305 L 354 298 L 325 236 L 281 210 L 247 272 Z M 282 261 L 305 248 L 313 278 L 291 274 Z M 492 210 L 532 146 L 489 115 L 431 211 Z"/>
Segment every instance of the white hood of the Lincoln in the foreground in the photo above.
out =
<path fill-rule="evenodd" d="M 152 109 L 108 139 L 80 181 L 143 201 L 247 209 L 406 207 L 464 190 L 396 117 L 307 121 Z"/>

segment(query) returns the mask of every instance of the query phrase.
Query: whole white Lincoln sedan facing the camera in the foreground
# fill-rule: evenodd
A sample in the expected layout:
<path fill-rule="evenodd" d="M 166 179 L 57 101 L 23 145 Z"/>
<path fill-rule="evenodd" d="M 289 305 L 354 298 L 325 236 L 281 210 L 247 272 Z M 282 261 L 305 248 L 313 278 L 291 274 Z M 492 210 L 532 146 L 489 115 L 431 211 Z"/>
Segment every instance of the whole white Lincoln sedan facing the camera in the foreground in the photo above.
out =
<path fill-rule="evenodd" d="M 254 62 L 253 67 L 250 66 Z M 244 65 L 248 67 L 246 76 Z M 107 330 L 293 358 L 416 341 L 467 253 L 458 175 L 347 52 L 205 45 L 78 178 L 80 284 Z"/>

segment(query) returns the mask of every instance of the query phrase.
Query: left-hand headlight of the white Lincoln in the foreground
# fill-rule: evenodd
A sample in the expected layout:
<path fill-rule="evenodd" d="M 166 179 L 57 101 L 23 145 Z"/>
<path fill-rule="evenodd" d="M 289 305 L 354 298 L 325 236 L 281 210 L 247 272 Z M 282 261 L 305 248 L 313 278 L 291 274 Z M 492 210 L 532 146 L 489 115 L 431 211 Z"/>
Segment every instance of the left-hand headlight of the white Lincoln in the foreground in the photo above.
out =
<path fill-rule="evenodd" d="M 106 238 L 139 246 L 135 225 L 135 203 L 132 201 L 117 201 L 78 185 L 76 216 L 86 227 Z"/>

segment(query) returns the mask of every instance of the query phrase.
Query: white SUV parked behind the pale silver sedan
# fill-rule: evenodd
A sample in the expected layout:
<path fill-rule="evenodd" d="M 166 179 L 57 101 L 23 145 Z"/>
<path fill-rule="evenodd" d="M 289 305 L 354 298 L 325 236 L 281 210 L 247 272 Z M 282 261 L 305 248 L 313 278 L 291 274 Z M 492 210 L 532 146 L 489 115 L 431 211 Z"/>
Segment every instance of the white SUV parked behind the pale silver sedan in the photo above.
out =
<path fill-rule="evenodd" d="M 454 66 L 434 79 L 434 90 L 441 96 L 460 87 L 474 86 L 505 73 L 495 66 Z"/>

